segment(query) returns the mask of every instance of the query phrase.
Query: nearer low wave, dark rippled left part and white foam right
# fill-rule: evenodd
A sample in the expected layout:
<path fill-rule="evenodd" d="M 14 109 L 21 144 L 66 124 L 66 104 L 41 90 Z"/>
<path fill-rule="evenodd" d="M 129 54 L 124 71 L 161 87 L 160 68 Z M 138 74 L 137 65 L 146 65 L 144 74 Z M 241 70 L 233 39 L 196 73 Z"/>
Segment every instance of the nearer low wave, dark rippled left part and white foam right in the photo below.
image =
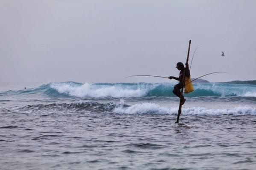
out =
<path fill-rule="evenodd" d="M 117 114 L 169 114 L 177 115 L 178 107 L 162 107 L 155 103 L 142 103 L 132 106 L 124 104 L 121 99 L 119 104 L 98 102 L 84 102 L 71 104 L 35 104 L 27 105 L 19 108 L 7 108 L 8 112 L 26 112 L 35 114 L 53 113 L 53 114 L 75 114 L 78 112 L 84 113 L 117 113 Z M 3 111 L 3 110 L 2 110 Z M 6 110 L 4 112 L 7 112 Z M 182 115 L 256 115 L 256 108 L 250 106 L 223 108 L 223 109 L 209 109 L 205 107 L 185 107 L 182 108 Z"/>

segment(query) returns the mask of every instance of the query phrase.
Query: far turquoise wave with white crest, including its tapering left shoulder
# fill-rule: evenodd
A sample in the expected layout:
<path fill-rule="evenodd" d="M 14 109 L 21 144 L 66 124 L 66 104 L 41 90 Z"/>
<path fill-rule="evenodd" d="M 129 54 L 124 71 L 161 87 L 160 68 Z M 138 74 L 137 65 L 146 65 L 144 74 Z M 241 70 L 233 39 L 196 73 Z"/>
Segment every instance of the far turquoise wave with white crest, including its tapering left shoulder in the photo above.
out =
<path fill-rule="evenodd" d="M 0 95 L 19 94 L 41 94 L 49 97 L 78 97 L 78 98 L 122 98 L 122 97 L 174 97 L 171 83 L 76 83 L 62 82 L 44 84 L 33 89 L 23 89 L 19 91 L 1 92 Z M 242 96 L 256 97 L 255 84 L 235 84 L 235 83 L 194 83 L 194 92 L 185 94 L 187 97 L 213 96 Z"/>

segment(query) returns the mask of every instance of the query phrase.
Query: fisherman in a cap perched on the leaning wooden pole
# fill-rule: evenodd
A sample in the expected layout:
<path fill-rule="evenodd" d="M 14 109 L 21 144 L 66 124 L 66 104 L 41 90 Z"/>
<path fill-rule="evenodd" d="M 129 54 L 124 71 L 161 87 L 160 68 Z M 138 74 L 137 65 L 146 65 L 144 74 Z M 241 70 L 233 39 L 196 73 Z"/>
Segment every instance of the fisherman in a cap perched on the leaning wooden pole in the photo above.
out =
<path fill-rule="evenodd" d="M 171 79 L 175 79 L 175 80 L 179 81 L 179 83 L 174 86 L 173 93 L 174 93 L 175 95 L 177 95 L 177 96 L 180 98 L 180 95 L 181 95 L 180 89 L 183 88 L 182 78 L 183 78 L 184 70 L 185 70 L 185 76 L 186 76 L 187 78 L 189 78 L 190 72 L 189 72 L 189 69 L 188 69 L 188 68 L 189 68 L 189 67 L 188 67 L 188 63 L 186 63 L 186 67 L 184 67 L 184 65 L 183 65 L 182 62 L 178 62 L 176 68 L 177 68 L 178 70 L 180 70 L 180 72 L 179 72 L 179 77 L 177 78 L 177 77 L 170 76 L 170 77 L 168 77 L 168 78 L 169 78 L 170 80 L 171 80 Z M 181 104 L 183 105 L 183 104 L 185 103 L 185 101 L 186 101 L 186 99 L 184 98 L 183 94 L 182 94 L 182 96 L 181 96 L 181 100 L 182 100 Z"/>

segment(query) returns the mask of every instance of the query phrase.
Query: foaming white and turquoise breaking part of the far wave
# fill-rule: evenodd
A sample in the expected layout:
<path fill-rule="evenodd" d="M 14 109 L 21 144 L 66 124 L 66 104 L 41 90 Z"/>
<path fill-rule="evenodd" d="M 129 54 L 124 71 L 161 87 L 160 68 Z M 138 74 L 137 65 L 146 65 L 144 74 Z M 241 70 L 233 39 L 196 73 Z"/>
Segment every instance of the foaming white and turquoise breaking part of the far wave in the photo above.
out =
<path fill-rule="evenodd" d="M 174 96 L 173 84 L 77 84 L 74 82 L 51 83 L 50 87 L 61 94 L 74 97 L 142 97 L 152 96 Z M 190 93 L 195 96 L 242 96 L 256 97 L 255 86 L 244 84 L 194 84 L 195 91 Z"/>

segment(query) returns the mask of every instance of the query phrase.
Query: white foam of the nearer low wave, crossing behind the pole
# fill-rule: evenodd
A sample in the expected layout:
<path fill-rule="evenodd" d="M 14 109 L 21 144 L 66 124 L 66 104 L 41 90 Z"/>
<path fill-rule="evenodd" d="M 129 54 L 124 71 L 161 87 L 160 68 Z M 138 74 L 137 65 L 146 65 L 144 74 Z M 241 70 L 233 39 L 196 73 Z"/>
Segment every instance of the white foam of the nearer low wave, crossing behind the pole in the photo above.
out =
<path fill-rule="evenodd" d="M 154 103 L 135 104 L 131 107 L 117 107 L 113 110 L 115 113 L 125 114 L 177 114 L 178 107 L 160 107 Z M 243 106 L 225 109 L 207 109 L 204 107 L 190 107 L 182 109 L 183 115 L 256 115 L 256 108 Z"/>

